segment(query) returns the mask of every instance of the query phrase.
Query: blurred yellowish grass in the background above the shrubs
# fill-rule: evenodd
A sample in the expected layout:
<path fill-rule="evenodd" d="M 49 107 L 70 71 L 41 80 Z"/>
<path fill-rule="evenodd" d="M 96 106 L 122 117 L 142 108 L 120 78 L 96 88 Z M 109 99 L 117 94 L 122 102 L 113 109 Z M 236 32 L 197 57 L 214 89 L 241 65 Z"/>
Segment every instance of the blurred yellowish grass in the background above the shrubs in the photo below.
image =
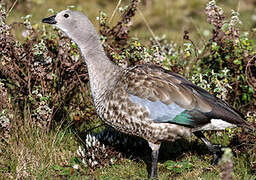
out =
<path fill-rule="evenodd" d="M 183 43 L 183 32 L 188 30 L 193 39 L 206 39 L 203 34 L 210 29 L 209 24 L 206 22 L 204 14 L 205 4 L 207 0 L 194 0 L 194 1 L 169 1 L 169 0 L 144 0 L 151 2 L 147 6 L 140 5 L 149 26 L 157 36 L 166 34 L 167 39 L 174 41 L 181 45 Z M 142 1 L 142 2 L 144 2 Z M 100 11 L 104 11 L 110 17 L 118 4 L 116 1 L 101 1 L 101 0 L 33 0 L 26 3 L 18 1 L 16 8 L 12 10 L 8 17 L 9 22 L 20 21 L 20 17 L 27 14 L 32 14 L 32 22 L 39 23 L 42 18 L 47 17 L 50 13 L 47 9 L 53 8 L 56 11 L 66 9 L 70 5 L 75 5 L 75 9 L 83 11 L 92 20 L 93 24 L 98 25 L 96 17 L 99 16 Z M 253 27 L 251 21 L 252 14 L 254 13 L 253 0 L 247 1 L 217 1 L 223 7 L 226 13 L 230 13 L 232 9 L 239 9 L 241 20 L 243 23 L 243 30 L 248 31 Z M 129 0 L 122 0 L 120 7 L 124 7 L 129 3 Z M 11 5 L 10 5 L 11 6 Z M 116 13 L 113 17 L 111 24 L 115 24 L 119 19 L 120 13 Z M 147 41 L 152 34 L 148 30 L 143 17 L 137 13 L 133 18 L 133 26 L 131 29 L 131 36 L 139 37 Z"/>

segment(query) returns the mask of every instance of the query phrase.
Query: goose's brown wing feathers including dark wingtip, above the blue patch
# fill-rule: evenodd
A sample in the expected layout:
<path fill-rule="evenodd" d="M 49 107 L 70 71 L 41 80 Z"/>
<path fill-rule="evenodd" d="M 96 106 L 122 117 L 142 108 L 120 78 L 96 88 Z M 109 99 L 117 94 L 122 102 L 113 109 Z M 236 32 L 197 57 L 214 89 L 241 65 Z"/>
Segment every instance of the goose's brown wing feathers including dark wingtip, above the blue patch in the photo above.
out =
<path fill-rule="evenodd" d="M 246 124 L 240 113 L 226 102 L 177 73 L 158 66 L 140 65 L 127 69 L 125 77 L 129 84 L 129 93 L 151 101 L 161 101 L 167 105 L 174 102 L 189 111 L 205 113 L 201 116 L 200 123 L 208 123 L 210 119 L 219 118 L 232 124 Z"/>

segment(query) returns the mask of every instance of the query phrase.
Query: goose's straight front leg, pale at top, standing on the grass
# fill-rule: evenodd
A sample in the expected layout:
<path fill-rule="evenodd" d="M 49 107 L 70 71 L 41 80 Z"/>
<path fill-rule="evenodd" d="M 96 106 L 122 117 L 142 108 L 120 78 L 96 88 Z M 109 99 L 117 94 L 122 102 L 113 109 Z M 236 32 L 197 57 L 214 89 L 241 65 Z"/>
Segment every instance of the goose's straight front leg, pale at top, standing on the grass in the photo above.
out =
<path fill-rule="evenodd" d="M 160 144 L 153 144 L 149 142 L 149 146 L 152 149 L 152 154 L 151 154 L 151 172 L 150 172 L 150 178 L 151 179 L 157 179 L 157 162 L 158 162 L 158 155 L 159 155 L 159 148 Z"/>

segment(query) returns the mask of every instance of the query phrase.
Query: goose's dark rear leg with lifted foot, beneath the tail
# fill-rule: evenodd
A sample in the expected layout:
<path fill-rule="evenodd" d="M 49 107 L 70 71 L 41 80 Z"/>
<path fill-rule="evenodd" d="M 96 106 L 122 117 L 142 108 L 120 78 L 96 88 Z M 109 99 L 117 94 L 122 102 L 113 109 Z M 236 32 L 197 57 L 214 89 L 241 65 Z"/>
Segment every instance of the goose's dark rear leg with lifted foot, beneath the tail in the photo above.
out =
<path fill-rule="evenodd" d="M 210 141 L 204 136 L 204 134 L 201 131 L 194 132 L 194 134 L 196 137 L 201 139 L 201 141 L 203 141 L 203 143 L 206 145 L 208 150 L 211 153 L 213 153 L 212 165 L 216 165 L 221 159 L 221 156 L 223 154 L 223 151 L 221 150 L 221 145 L 211 144 Z"/>

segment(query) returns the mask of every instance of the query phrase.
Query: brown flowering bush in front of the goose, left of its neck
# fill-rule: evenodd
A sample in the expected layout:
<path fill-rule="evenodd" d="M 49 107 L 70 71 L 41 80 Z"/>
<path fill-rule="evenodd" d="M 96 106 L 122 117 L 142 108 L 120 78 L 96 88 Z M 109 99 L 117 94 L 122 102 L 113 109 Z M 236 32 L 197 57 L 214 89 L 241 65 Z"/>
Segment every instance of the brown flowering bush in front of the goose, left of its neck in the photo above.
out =
<path fill-rule="evenodd" d="M 0 77 L 20 118 L 49 130 L 52 122 L 93 115 L 88 74 L 76 45 L 56 29 L 32 26 L 30 16 L 23 17 L 23 23 L 7 25 L 4 5 L 0 13 Z M 11 31 L 18 26 L 25 27 L 24 43 Z"/>

